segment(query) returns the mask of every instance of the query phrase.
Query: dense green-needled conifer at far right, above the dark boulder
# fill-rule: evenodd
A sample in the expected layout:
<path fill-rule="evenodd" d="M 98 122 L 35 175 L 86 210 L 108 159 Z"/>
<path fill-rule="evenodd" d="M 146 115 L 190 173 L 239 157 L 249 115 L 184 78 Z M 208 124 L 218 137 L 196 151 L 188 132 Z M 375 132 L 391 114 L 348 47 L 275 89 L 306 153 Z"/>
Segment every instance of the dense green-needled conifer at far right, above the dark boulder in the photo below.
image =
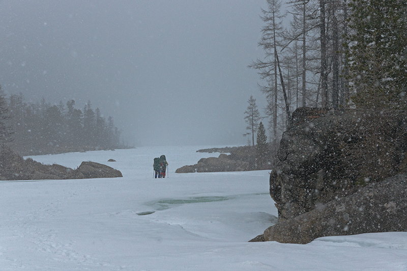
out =
<path fill-rule="evenodd" d="M 407 88 L 407 5 L 401 0 L 353 0 L 347 35 L 353 101 L 400 105 Z"/>

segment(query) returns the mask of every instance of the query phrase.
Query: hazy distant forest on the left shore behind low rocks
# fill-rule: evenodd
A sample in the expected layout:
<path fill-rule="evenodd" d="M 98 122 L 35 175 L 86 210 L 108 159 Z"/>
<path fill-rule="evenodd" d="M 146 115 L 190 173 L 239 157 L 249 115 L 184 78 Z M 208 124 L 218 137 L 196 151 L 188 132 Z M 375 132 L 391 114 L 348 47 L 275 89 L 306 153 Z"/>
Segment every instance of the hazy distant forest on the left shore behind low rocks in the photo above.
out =
<path fill-rule="evenodd" d="M 22 94 L 7 100 L 12 129 L 9 145 L 21 155 L 124 148 L 113 118 L 106 120 L 99 108 L 92 109 L 90 101 L 81 111 L 75 109 L 74 100 L 58 105 L 44 98 L 27 103 Z"/>

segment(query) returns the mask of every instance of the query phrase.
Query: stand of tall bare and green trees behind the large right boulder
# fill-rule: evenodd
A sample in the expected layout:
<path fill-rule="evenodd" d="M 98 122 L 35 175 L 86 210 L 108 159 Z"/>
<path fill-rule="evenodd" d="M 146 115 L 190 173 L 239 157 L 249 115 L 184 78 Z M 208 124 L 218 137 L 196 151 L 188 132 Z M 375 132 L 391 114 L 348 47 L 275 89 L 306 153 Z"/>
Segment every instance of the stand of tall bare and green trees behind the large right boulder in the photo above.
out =
<path fill-rule="evenodd" d="M 292 0 L 285 8 L 267 0 L 258 43 L 264 57 L 249 66 L 260 75 L 274 148 L 301 106 L 405 107 L 405 1 Z"/>

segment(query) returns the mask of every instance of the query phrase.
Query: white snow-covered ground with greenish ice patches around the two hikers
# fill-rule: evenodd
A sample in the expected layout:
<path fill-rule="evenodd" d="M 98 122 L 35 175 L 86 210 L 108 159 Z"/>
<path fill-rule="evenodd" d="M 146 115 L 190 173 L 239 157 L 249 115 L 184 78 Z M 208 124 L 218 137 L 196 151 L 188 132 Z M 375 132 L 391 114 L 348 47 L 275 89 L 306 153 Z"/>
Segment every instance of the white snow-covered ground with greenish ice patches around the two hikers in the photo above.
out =
<path fill-rule="evenodd" d="M 0 270 L 407 270 L 407 232 L 247 242 L 276 220 L 268 172 L 175 173 L 208 147 L 33 156 L 124 177 L 1 181 Z M 169 178 L 153 179 L 161 154 Z"/>

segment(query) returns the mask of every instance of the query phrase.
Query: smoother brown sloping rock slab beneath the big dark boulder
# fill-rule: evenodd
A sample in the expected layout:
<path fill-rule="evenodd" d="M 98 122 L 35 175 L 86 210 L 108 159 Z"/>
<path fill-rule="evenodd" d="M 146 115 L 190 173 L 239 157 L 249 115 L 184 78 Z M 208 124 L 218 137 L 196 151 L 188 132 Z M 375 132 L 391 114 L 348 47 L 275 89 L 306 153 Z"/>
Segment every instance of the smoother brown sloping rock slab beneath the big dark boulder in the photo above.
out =
<path fill-rule="evenodd" d="M 308 243 L 318 237 L 407 231 L 407 175 L 372 183 L 353 195 L 268 228 L 266 241 Z M 257 236 L 253 241 L 263 241 Z"/>

